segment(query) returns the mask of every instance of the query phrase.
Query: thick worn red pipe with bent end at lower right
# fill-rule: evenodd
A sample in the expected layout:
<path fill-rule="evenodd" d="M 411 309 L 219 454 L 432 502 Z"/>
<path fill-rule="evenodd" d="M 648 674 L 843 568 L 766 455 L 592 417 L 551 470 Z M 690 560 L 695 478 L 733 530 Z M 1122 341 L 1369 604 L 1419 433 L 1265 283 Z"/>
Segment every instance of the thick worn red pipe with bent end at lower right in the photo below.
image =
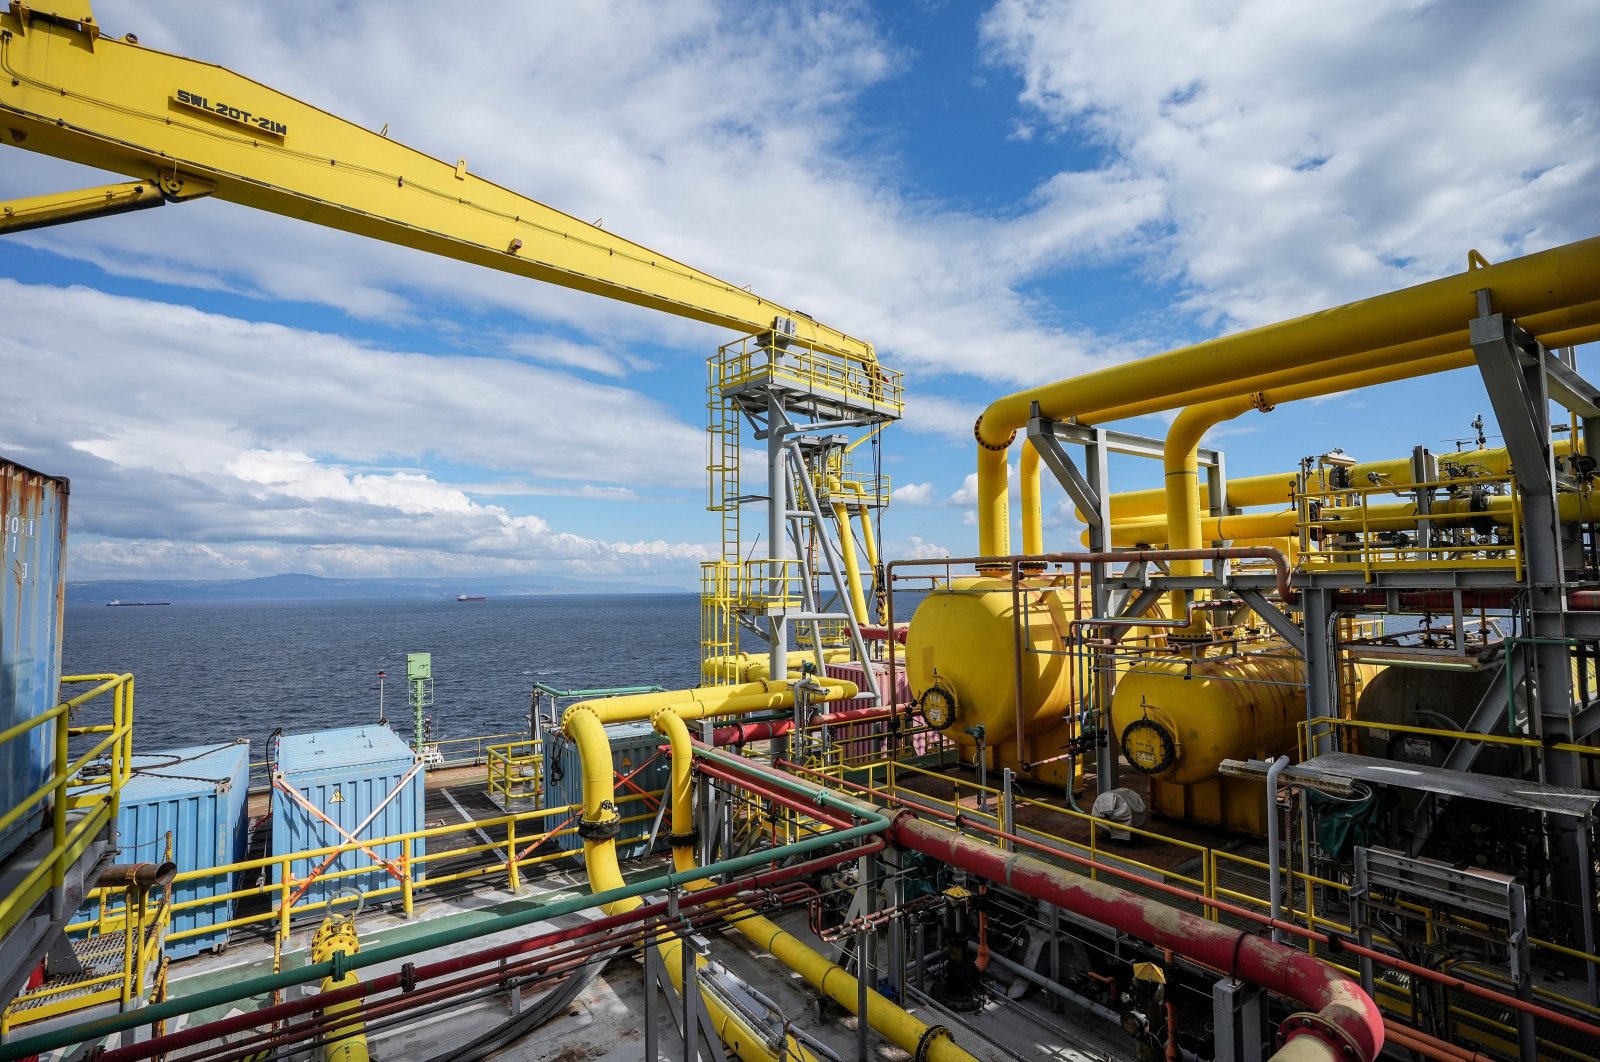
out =
<path fill-rule="evenodd" d="M 1224 974 L 1243 977 L 1315 1008 L 1293 1014 L 1282 1024 L 1285 1043 L 1274 1056 L 1278 1062 L 1373 1062 L 1384 1046 L 1378 1004 L 1333 968 L 1288 945 L 1206 921 L 1032 856 L 1003 852 L 914 816 L 896 817 L 890 836 L 901 848 L 1066 907 L 1155 947 L 1171 948 Z"/>

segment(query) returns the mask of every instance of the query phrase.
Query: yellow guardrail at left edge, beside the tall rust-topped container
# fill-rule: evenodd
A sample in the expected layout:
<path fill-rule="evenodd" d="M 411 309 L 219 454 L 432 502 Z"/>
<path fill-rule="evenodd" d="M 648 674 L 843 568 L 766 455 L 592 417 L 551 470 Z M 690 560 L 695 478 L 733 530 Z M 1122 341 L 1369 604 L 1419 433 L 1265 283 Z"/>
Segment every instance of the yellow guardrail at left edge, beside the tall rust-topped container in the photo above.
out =
<path fill-rule="evenodd" d="M 94 686 L 62 701 L 48 712 L 0 731 L 0 745 L 53 725 L 50 774 L 43 785 L 0 816 L 0 830 L 21 822 L 35 809 L 48 808 L 51 848 L 10 894 L 0 896 L 0 937 L 13 929 L 51 889 L 61 889 L 67 868 L 78 860 L 96 836 L 117 822 L 117 801 L 128 781 L 133 757 L 133 675 L 66 675 L 62 686 Z M 110 694 L 110 723 L 72 726 L 72 717 L 90 702 Z M 104 702 L 101 702 L 104 704 Z M 75 739 L 88 739 L 86 749 L 72 757 Z M 80 773 L 96 760 L 107 763 L 107 773 L 94 777 L 94 787 L 72 793 L 83 782 Z"/>

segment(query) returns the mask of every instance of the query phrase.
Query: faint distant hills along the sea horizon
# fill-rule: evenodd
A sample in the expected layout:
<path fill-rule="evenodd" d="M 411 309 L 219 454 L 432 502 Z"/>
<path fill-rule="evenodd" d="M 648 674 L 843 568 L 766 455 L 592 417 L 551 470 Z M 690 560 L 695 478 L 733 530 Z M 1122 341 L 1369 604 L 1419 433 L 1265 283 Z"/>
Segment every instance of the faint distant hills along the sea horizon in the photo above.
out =
<path fill-rule="evenodd" d="M 682 587 L 638 585 L 515 576 L 507 579 L 325 579 L 322 576 L 264 576 L 261 579 L 96 579 L 67 582 L 67 601 L 323 601 L 357 598 L 440 600 L 458 593 L 528 597 L 534 593 L 690 593 Z"/>

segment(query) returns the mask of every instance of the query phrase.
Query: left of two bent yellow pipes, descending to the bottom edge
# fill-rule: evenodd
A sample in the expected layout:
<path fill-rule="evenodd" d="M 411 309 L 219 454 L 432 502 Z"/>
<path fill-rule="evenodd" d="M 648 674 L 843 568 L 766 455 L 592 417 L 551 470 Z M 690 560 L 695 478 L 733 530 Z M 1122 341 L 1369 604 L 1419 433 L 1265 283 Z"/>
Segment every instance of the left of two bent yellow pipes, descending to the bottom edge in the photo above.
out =
<path fill-rule="evenodd" d="M 578 704 L 562 715 L 562 733 L 578 747 L 578 763 L 582 766 L 584 782 L 584 822 L 606 824 L 616 820 L 616 789 L 611 781 L 611 742 L 605 736 L 605 723 L 600 721 L 592 707 Z M 614 836 L 584 838 L 584 865 L 589 870 L 590 892 L 619 889 L 626 884 L 622 868 L 616 859 Z M 693 854 L 690 865 L 693 865 Z M 630 896 L 605 904 L 603 910 L 606 915 L 622 915 L 642 905 L 642 899 Z M 667 976 L 678 992 L 683 990 L 682 948 L 683 944 L 675 936 L 662 936 L 656 942 L 656 950 L 661 953 Z M 704 966 L 702 958 L 696 956 L 694 961 L 698 966 Z M 715 995 L 701 992 L 701 998 L 706 1003 L 706 1012 L 710 1016 L 717 1036 L 722 1038 L 730 1051 L 744 1059 L 744 1062 L 779 1062 L 779 1057 L 766 1048 L 765 1041 L 754 1030 L 747 1028 L 744 1022 L 730 1014 Z M 794 1038 L 790 1038 L 787 1046 L 787 1059 L 818 1062 L 816 1056 Z"/>

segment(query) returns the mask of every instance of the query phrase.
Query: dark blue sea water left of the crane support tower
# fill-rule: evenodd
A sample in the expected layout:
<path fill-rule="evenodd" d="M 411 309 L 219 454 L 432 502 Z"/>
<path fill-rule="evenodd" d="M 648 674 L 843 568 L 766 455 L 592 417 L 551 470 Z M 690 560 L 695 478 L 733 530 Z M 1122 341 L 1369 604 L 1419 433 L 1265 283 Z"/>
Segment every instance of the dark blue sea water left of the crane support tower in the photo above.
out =
<path fill-rule="evenodd" d="M 406 653 L 434 657 L 427 715 L 435 737 L 526 733 L 534 683 L 698 685 L 699 600 L 589 593 L 69 605 L 62 673 L 131 672 L 139 750 L 248 737 L 251 758 L 261 758 L 278 728 L 294 734 L 376 721 L 379 693 L 395 728 L 410 733 Z"/>

